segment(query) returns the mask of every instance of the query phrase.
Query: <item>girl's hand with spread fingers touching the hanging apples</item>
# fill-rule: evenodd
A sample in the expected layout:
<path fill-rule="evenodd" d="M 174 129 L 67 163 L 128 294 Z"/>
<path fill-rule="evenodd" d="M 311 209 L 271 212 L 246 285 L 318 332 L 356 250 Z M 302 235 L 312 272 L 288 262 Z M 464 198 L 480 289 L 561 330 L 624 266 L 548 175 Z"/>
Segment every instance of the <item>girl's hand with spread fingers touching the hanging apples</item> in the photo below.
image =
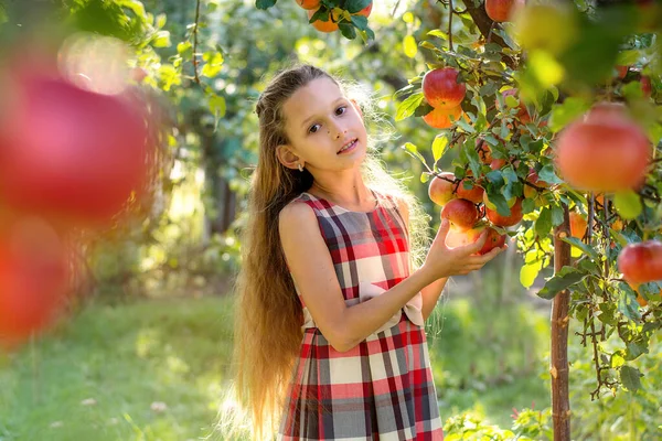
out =
<path fill-rule="evenodd" d="M 485 255 L 478 255 L 478 251 L 480 251 L 485 243 L 487 230 L 482 232 L 478 240 L 473 244 L 448 248 L 446 246 L 446 236 L 449 229 L 450 223 L 448 219 L 441 220 L 437 236 L 421 267 L 433 280 L 449 276 L 468 275 L 471 271 L 481 269 L 483 265 L 508 248 L 504 246 L 502 248 L 494 248 Z"/>

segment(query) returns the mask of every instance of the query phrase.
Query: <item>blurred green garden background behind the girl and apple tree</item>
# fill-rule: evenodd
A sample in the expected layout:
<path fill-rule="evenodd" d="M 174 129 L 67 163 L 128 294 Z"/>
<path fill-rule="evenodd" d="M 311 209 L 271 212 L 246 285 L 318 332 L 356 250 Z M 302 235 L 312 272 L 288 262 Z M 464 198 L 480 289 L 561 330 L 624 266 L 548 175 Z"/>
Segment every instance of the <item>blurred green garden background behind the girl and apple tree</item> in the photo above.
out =
<path fill-rule="evenodd" d="M 148 218 L 88 241 L 68 319 L 0 355 L 0 441 L 238 439 L 217 422 L 233 409 L 232 287 L 256 162 L 255 99 L 295 62 L 354 79 L 383 112 L 373 132 L 392 133 L 377 146 L 382 159 L 424 202 L 434 228 L 439 208 L 419 182 L 420 163 L 401 146 L 429 146 L 436 132 L 420 118 L 395 122 L 393 93 L 427 69 L 431 55 L 416 42 L 434 39 L 427 32 L 447 12 L 433 0 L 380 2 L 371 15 L 377 39 L 363 44 L 319 34 L 293 0 L 268 11 L 239 0 L 53 3 L 81 29 L 135 49 L 135 64 L 148 74 L 143 87 L 166 103 L 173 130 Z M 12 26 L 32 15 L 2 4 L 7 43 Z M 458 42 L 477 39 L 461 20 L 453 32 Z M 551 438 L 551 304 L 533 294 L 549 273 L 524 290 L 513 251 L 451 280 L 429 321 L 447 440 Z M 570 335 L 575 439 L 662 435 L 659 343 L 638 362 L 648 373 L 642 390 L 591 401 L 595 372 L 584 361 L 592 348 Z"/>

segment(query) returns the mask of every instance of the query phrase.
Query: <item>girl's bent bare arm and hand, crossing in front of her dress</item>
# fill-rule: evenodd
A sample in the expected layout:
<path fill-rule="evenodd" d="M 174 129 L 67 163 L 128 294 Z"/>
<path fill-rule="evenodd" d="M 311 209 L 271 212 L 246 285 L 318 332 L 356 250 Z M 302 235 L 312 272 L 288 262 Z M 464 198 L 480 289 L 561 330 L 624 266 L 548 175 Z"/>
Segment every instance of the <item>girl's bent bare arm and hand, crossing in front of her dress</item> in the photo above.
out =
<path fill-rule="evenodd" d="M 373 334 L 435 280 L 479 269 L 495 255 L 472 256 L 482 247 L 484 235 L 476 244 L 448 249 L 447 233 L 448 225 L 439 229 L 420 269 L 370 301 L 346 306 L 312 208 L 295 203 L 279 216 L 282 250 L 301 297 L 321 333 L 340 352 Z"/>

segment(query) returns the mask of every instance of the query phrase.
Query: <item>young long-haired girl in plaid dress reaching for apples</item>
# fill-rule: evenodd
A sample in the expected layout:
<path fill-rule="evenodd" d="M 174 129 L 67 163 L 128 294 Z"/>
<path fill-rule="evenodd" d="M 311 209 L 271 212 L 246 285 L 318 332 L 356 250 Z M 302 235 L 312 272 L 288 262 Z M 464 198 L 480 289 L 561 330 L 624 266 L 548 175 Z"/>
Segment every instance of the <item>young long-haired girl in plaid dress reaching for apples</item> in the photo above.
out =
<path fill-rule="evenodd" d="M 410 271 L 412 196 L 366 157 L 363 112 L 312 66 L 257 103 L 235 334 L 255 439 L 441 440 L 425 320 L 449 276 L 500 249 L 449 249 L 442 224 Z M 384 183 L 386 185 L 384 185 Z"/>

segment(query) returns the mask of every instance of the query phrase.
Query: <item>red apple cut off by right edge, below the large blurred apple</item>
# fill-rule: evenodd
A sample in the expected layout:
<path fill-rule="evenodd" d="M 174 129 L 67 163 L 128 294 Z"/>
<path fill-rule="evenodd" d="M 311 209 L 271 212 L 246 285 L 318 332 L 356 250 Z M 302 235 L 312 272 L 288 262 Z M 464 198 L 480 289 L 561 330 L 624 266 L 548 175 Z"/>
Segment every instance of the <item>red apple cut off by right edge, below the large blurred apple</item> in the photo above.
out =
<path fill-rule="evenodd" d="M 618 269 L 628 283 L 639 286 L 662 280 L 662 243 L 630 244 L 618 256 Z"/>

